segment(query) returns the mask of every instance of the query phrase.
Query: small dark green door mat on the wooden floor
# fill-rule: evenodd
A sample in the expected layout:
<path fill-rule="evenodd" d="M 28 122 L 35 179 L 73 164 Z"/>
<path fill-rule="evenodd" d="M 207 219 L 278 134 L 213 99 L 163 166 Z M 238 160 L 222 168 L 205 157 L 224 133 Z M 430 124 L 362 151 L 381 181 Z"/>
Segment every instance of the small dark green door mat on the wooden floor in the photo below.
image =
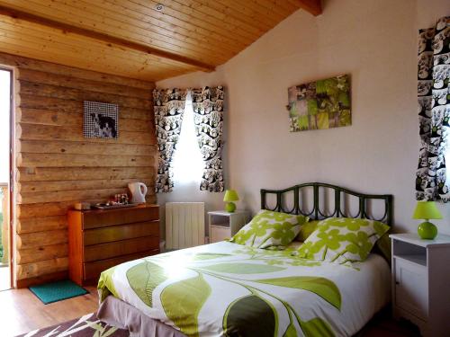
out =
<path fill-rule="evenodd" d="M 40 284 L 29 289 L 45 305 L 89 293 L 85 288 L 81 288 L 71 280 Z"/>

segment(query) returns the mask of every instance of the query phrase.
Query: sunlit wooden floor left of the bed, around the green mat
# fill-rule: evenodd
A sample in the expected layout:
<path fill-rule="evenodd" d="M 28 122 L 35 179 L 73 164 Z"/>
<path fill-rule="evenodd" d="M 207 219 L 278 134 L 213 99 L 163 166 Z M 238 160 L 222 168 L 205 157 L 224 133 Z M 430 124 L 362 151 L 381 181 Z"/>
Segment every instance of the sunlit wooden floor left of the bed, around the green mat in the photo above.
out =
<path fill-rule="evenodd" d="M 0 336 L 16 336 L 97 310 L 95 287 L 89 294 L 44 305 L 28 288 L 0 291 Z"/>

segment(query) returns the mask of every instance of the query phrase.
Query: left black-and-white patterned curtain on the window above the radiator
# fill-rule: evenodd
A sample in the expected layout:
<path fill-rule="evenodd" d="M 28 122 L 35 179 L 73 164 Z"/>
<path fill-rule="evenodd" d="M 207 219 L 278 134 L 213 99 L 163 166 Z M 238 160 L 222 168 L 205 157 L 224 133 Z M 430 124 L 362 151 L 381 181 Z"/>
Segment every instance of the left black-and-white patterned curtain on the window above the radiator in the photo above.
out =
<path fill-rule="evenodd" d="M 174 187 L 171 165 L 176 143 L 180 137 L 185 101 L 185 90 L 155 89 L 153 91 L 153 109 L 159 150 L 156 192 L 170 192 Z"/>

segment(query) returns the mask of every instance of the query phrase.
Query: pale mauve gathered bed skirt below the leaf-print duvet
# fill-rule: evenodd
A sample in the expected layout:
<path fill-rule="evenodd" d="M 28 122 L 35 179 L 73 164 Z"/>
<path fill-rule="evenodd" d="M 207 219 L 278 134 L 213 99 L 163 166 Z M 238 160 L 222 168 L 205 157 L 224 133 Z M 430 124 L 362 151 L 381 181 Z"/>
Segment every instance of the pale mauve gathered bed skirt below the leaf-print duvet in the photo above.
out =
<path fill-rule="evenodd" d="M 173 327 L 142 314 L 139 309 L 108 296 L 97 311 L 97 317 L 112 326 L 127 329 L 131 337 L 185 337 Z"/>

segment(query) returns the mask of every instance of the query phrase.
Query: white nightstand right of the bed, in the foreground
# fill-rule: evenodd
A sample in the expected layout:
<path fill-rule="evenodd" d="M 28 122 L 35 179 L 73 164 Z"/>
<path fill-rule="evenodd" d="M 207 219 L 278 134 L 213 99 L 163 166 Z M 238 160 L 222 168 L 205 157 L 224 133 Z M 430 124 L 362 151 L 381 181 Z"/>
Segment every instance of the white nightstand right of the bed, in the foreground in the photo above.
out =
<path fill-rule="evenodd" d="M 450 333 L 450 236 L 422 240 L 417 234 L 392 239 L 392 308 L 417 324 L 424 336 Z"/>

